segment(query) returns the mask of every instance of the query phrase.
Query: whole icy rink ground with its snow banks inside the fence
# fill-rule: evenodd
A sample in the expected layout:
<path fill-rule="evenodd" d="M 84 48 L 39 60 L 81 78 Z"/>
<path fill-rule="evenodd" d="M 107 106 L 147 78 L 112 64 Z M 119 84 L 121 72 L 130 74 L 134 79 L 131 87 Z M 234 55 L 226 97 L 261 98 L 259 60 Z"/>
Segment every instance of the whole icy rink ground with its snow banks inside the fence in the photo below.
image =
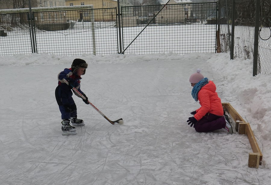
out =
<path fill-rule="evenodd" d="M 85 126 L 62 136 L 57 74 L 87 61 L 81 89 L 109 119 L 74 96 Z M 269 184 L 271 76 L 229 54 L 0 57 L 0 184 Z M 200 105 L 190 75 L 200 68 L 222 102 L 247 120 L 263 153 L 248 168 L 248 137 L 197 133 L 186 120 Z"/>

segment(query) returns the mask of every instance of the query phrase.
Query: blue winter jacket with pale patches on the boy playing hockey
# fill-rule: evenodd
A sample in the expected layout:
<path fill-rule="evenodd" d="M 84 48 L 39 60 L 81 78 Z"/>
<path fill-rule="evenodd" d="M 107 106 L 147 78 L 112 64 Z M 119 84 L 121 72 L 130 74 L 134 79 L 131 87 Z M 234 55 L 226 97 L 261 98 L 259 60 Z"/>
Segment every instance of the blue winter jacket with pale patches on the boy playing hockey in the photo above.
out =
<path fill-rule="evenodd" d="M 68 86 L 64 81 L 63 79 L 67 80 L 67 81 L 70 81 L 72 82 L 73 86 L 81 93 L 83 94 L 83 92 L 81 91 L 80 89 L 80 83 L 81 83 L 81 77 L 78 76 L 75 73 L 72 72 L 72 69 L 69 68 L 65 68 L 64 71 L 61 71 L 59 74 L 58 74 L 58 85 L 61 86 L 62 89 L 64 90 L 67 90 L 69 91 L 70 89 L 72 89 L 71 86 Z M 74 91 L 73 91 L 74 92 Z M 76 92 L 74 92 L 74 94 L 78 97 L 80 97 Z"/>

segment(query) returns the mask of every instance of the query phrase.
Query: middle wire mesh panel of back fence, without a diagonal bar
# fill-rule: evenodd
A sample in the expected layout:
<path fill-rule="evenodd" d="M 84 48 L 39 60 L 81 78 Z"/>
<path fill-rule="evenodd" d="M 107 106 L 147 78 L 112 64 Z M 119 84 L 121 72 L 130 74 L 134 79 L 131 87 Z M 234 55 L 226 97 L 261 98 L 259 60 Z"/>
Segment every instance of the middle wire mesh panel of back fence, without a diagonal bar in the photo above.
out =
<path fill-rule="evenodd" d="M 118 53 L 116 11 L 105 8 L 33 12 L 37 53 Z"/>

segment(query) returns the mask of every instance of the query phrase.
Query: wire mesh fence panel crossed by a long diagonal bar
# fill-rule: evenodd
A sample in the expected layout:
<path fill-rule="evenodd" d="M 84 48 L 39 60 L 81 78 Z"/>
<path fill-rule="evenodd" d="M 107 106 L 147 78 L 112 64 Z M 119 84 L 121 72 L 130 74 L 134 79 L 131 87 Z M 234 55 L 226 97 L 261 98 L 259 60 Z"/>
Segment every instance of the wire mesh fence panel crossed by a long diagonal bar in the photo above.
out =
<path fill-rule="evenodd" d="M 122 7 L 123 49 L 137 54 L 216 52 L 216 10 L 216 2 Z"/>

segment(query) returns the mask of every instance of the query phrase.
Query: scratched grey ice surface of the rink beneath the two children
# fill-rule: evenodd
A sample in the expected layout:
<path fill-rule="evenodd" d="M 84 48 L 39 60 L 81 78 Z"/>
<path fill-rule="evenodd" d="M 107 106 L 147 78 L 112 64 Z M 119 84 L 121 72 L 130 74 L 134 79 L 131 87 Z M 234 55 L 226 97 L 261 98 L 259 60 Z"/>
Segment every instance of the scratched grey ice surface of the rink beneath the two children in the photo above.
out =
<path fill-rule="evenodd" d="M 206 65 L 204 60 L 197 62 L 197 67 Z M 44 83 L 39 75 L 58 74 L 66 66 L 29 65 L 3 71 L 5 76 L 14 72 L 28 80 L 24 86 L 12 81 L 17 91 L 2 94 L 16 97 L 1 100 L 13 110 L 3 109 L 2 121 L 17 124 L 5 124 L 1 130 L 1 184 L 264 184 L 270 180 L 267 170 L 248 169 L 245 136 L 196 133 L 187 125 L 189 112 L 198 107 L 185 76 L 194 66 L 191 61 L 90 65 L 82 90 L 108 118 L 121 117 L 125 124 L 108 124 L 74 97 L 86 125 L 76 126 L 73 136 L 60 134 L 55 76 L 46 76 Z"/>

